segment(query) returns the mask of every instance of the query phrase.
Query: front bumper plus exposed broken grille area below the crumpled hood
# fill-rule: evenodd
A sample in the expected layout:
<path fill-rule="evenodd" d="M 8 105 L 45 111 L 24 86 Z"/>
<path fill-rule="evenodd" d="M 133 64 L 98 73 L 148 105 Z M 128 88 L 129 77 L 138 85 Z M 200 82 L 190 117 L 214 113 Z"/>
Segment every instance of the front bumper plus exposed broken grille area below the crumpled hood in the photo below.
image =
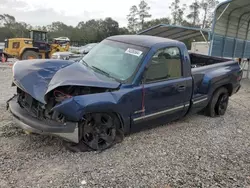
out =
<path fill-rule="evenodd" d="M 17 94 L 7 101 L 7 108 L 19 127 L 38 134 L 62 137 L 70 142 L 79 142 L 78 123 L 52 111 L 54 104 L 43 104 L 17 87 Z"/>

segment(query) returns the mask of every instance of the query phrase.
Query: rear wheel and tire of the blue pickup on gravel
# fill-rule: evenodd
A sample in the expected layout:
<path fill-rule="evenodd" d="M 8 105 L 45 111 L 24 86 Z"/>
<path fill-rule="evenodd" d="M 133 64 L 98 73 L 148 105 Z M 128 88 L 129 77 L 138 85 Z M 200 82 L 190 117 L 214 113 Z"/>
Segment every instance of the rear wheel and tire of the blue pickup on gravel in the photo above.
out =
<path fill-rule="evenodd" d="M 229 101 L 228 90 L 224 87 L 218 89 L 213 94 L 205 113 L 210 117 L 223 116 L 226 113 Z"/>

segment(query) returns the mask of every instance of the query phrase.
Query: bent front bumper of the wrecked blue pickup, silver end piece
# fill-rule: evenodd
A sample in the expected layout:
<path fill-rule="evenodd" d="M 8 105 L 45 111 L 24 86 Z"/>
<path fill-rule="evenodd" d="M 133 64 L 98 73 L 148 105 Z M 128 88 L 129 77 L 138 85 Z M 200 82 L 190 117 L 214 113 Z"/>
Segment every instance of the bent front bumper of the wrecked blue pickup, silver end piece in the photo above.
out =
<path fill-rule="evenodd" d="M 7 102 L 7 107 L 14 117 L 16 124 L 25 131 L 45 135 L 59 136 L 67 141 L 79 143 L 78 123 L 45 122 L 31 116 L 17 103 L 17 97 Z"/>

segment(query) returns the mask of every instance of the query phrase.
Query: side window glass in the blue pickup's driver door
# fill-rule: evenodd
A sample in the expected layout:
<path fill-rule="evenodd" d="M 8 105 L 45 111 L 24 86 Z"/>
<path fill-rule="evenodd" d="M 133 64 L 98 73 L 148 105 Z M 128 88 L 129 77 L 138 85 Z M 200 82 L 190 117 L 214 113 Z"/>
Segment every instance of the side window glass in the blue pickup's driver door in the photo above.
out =
<path fill-rule="evenodd" d="M 182 76 L 180 50 L 170 47 L 158 50 L 146 73 L 146 82 L 176 79 Z"/>

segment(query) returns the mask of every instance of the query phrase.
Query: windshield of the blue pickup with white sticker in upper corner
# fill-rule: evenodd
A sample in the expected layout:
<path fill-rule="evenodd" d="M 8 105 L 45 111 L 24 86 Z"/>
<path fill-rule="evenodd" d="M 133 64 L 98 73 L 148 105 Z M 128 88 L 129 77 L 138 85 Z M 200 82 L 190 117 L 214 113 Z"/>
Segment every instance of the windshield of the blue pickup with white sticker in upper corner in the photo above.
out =
<path fill-rule="evenodd" d="M 104 40 L 83 57 L 89 67 L 120 81 L 133 76 L 147 48 Z"/>

